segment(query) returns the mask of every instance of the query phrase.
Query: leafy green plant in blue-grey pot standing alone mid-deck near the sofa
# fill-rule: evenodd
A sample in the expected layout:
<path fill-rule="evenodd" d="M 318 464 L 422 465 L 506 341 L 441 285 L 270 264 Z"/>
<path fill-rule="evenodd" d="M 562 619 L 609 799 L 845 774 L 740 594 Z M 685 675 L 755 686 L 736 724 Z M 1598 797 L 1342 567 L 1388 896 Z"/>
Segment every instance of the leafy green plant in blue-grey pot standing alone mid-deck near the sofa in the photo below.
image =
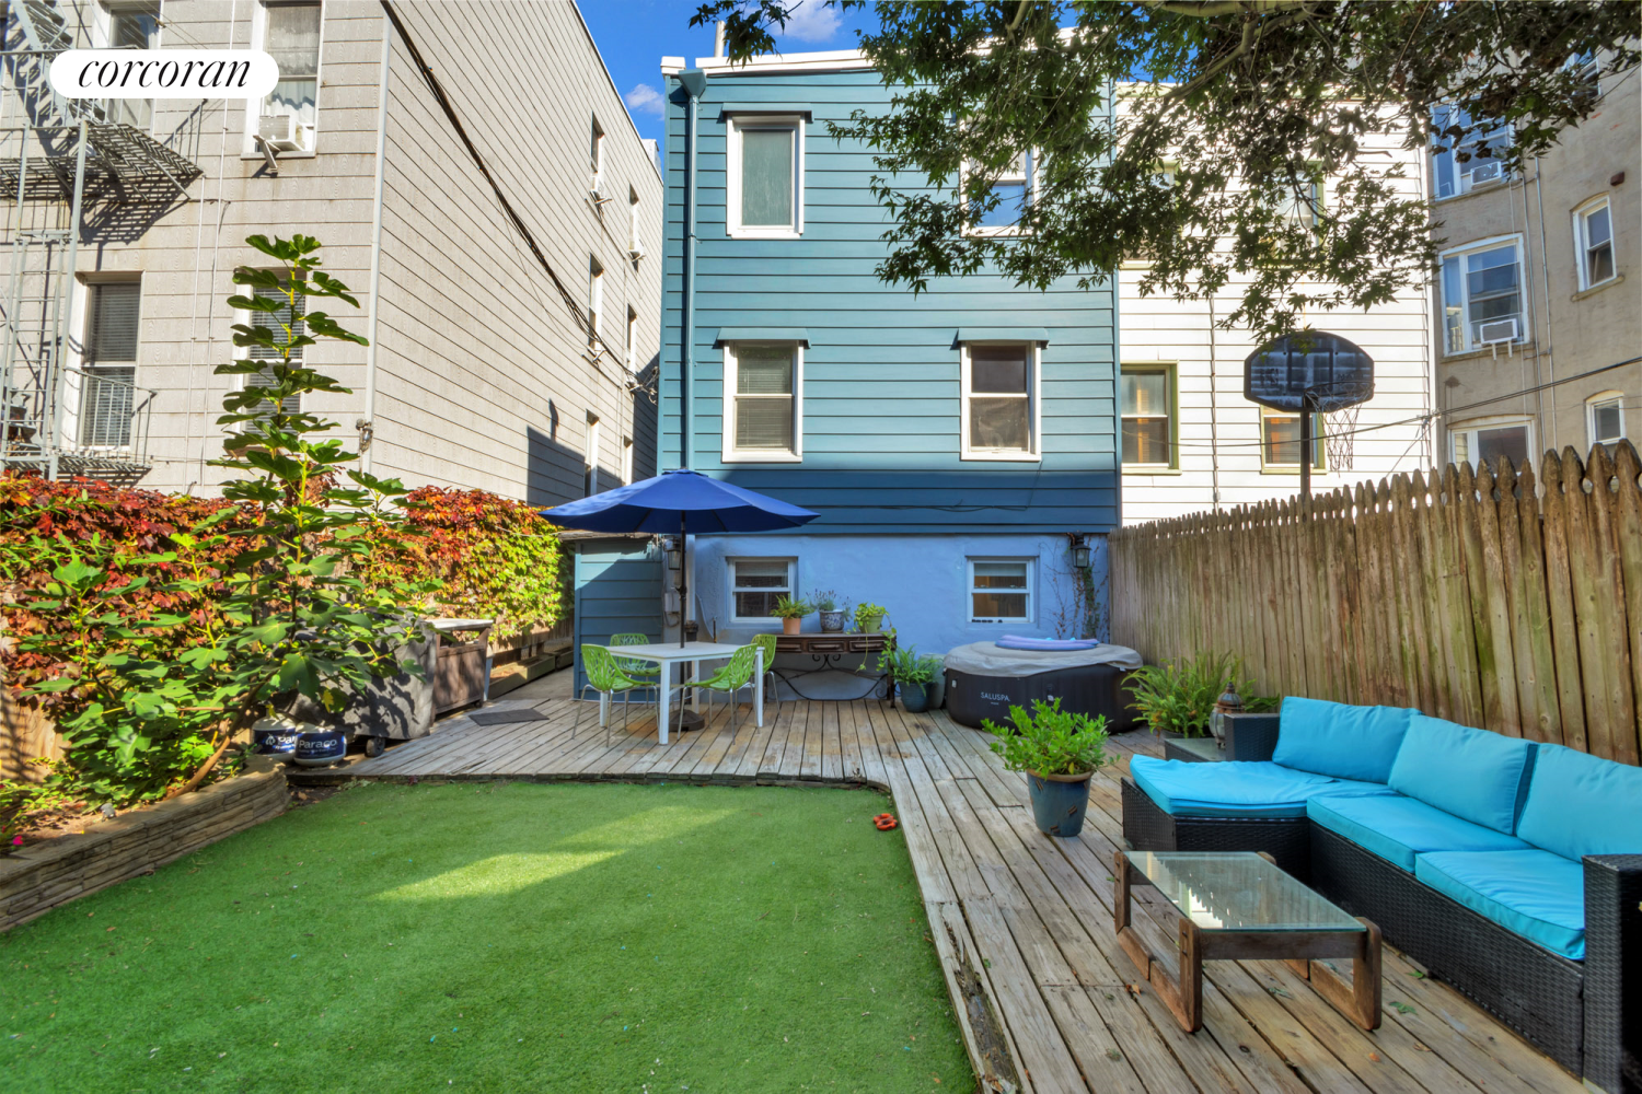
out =
<path fill-rule="evenodd" d="M 1089 812 L 1089 779 L 1112 763 L 1107 754 L 1107 718 L 1061 710 L 1061 700 L 1033 702 L 1028 715 L 1010 707 L 1010 725 L 980 723 L 998 736 L 992 751 L 1010 771 L 1026 773 L 1031 812 L 1038 828 L 1053 836 L 1076 836 Z"/>

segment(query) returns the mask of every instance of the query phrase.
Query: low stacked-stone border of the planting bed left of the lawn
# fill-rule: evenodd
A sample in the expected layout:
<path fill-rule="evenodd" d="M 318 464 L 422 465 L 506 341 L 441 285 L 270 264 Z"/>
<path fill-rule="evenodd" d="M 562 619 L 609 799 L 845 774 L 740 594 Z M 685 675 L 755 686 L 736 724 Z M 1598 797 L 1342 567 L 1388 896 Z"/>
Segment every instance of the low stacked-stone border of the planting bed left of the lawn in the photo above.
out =
<path fill-rule="evenodd" d="M 0 932 L 286 812 L 284 768 L 215 782 L 0 858 Z"/>

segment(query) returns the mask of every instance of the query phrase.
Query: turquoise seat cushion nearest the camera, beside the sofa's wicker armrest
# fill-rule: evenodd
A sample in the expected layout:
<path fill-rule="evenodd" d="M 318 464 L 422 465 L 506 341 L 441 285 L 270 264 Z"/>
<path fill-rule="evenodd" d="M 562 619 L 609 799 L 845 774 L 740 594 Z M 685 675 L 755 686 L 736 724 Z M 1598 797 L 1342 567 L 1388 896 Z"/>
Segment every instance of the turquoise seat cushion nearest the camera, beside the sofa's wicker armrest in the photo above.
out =
<path fill-rule="evenodd" d="M 1585 960 L 1585 868 L 1550 851 L 1433 851 L 1414 876 L 1552 953 Z"/>

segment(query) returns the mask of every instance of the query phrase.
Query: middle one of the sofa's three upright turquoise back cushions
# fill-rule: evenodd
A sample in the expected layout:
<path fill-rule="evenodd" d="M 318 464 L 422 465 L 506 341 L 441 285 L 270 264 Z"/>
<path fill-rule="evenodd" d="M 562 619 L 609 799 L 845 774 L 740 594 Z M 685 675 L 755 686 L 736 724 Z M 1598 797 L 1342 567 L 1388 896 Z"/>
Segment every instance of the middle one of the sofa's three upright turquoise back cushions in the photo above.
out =
<path fill-rule="evenodd" d="M 1519 736 L 1415 713 L 1387 782 L 1397 794 L 1417 797 L 1471 823 L 1516 832 L 1532 756 L 1534 743 Z"/>

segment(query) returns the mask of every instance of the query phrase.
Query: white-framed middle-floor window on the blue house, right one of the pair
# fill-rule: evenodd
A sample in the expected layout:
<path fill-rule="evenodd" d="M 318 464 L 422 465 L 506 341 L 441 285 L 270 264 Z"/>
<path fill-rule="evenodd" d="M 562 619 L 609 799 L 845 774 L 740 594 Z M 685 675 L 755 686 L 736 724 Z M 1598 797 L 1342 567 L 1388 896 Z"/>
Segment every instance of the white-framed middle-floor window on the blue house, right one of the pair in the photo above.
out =
<path fill-rule="evenodd" d="M 962 459 L 1039 459 L 1039 353 L 1028 341 L 964 343 Z"/>

